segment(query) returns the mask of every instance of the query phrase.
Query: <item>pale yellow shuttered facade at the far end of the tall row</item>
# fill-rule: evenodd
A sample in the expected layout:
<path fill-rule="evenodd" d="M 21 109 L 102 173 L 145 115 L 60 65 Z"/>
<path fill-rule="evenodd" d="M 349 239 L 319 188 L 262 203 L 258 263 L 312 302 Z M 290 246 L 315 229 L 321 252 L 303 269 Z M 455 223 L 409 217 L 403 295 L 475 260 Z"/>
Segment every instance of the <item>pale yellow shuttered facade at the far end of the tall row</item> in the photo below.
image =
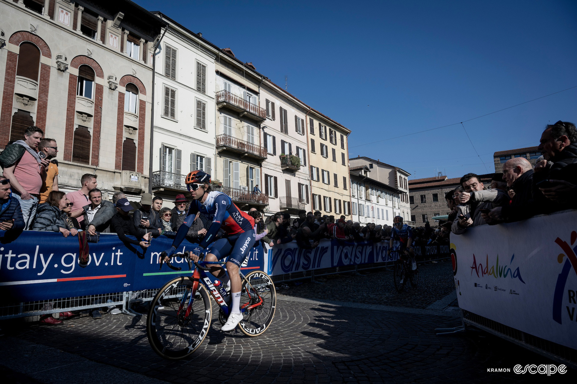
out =
<path fill-rule="evenodd" d="M 311 109 L 306 115 L 309 136 L 312 209 L 351 218 L 349 146 L 351 131 Z"/>

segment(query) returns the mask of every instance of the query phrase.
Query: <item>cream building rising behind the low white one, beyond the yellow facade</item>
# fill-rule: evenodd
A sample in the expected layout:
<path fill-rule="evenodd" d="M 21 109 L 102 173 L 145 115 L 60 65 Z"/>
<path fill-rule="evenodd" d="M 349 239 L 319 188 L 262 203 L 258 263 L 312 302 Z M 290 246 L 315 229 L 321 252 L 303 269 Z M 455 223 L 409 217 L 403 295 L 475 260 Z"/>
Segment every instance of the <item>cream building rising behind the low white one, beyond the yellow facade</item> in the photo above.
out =
<path fill-rule="evenodd" d="M 371 178 L 398 190 L 398 195 L 392 194 L 391 211 L 394 216 L 401 216 L 403 220 L 410 225 L 414 225 L 411 220 L 411 207 L 409 204 L 409 183 L 408 177 L 411 175 L 394 165 L 389 165 L 378 159 L 372 159 L 365 156 L 359 156 L 349 159 L 351 168 L 367 166 L 370 170 Z"/>

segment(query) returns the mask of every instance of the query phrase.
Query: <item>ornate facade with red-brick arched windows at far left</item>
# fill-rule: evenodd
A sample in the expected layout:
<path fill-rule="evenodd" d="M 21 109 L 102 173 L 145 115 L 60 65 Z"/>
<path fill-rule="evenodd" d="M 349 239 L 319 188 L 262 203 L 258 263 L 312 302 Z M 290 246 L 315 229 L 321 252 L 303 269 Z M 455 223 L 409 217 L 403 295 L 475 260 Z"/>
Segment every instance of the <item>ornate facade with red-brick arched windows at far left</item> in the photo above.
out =
<path fill-rule="evenodd" d="M 59 188 L 148 188 L 152 48 L 164 22 L 126 0 L 0 2 L 0 147 L 28 126 L 57 140 Z"/>

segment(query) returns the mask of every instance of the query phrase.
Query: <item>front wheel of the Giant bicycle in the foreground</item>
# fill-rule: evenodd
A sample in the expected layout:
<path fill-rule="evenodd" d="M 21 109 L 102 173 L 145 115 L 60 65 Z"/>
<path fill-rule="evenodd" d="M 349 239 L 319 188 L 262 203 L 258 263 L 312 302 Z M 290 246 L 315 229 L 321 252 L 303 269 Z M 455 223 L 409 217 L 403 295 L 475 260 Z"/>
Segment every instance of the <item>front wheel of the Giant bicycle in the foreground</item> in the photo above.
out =
<path fill-rule="evenodd" d="M 183 359 L 196 351 L 207 336 L 212 318 L 211 301 L 206 288 L 200 284 L 191 298 L 193 284 L 188 277 L 177 277 L 164 284 L 151 303 L 148 341 L 162 358 Z"/>

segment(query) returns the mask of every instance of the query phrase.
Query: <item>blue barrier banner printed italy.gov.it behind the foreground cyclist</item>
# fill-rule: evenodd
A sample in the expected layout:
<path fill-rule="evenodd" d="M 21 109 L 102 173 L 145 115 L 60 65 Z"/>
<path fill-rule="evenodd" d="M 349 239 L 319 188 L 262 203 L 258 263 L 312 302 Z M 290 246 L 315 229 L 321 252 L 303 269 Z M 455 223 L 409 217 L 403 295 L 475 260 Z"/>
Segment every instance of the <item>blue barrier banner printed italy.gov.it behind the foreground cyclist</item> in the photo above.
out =
<path fill-rule="evenodd" d="M 12 241 L 11 241 L 12 240 Z M 173 257 L 182 267 L 159 271 L 158 255 L 172 244 L 165 236 L 152 239 L 146 250 L 125 245 L 115 234 L 101 234 L 98 243 L 89 243 L 86 267 L 78 264 L 78 237 L 60 233 L 24 231 L 8 239 L 0 231 L 0 294 L 11 302 L 28 302 L 159 288 L 175 275 L 186 275 L 188 263 Z M 178 252 L 191 250 L 184 241 Z M 242 266 L 243 273 L 264 268 L 262 247 L 253 248 Z"/>

